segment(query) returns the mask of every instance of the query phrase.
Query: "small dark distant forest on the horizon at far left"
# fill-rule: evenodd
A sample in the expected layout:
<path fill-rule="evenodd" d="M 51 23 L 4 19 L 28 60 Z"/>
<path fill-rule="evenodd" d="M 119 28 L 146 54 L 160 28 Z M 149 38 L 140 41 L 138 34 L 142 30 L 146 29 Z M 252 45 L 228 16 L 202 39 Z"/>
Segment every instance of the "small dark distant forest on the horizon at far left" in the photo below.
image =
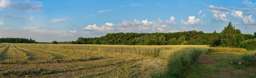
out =
<path fill-rule="evenodd" d="M 38 43 L 35 40 L 25 38 L 0 38 L 0 43 Z"/>

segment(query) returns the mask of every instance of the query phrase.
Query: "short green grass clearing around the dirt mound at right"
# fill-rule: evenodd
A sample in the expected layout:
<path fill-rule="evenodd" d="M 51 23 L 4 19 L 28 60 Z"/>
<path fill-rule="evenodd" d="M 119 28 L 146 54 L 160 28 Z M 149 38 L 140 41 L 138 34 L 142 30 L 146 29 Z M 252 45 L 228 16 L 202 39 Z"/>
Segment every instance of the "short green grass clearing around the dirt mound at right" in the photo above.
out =
<path fill-rule="evenodd" d="M 231 61 L 240 60 L 243 55 L 254 55 L 256 51 L 209 52 L 207 55 L 215 64 L 195 64 L 186 78 L 256 78 L 256 69 L 244 65 L 232 65 Z"/>

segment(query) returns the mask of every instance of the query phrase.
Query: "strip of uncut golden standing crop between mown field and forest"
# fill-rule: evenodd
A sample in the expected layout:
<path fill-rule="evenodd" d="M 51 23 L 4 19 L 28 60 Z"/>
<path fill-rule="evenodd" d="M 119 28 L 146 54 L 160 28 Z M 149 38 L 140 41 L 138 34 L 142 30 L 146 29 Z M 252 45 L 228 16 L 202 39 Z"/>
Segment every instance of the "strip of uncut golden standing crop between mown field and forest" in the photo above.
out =
<path fill-rule="evenodd" d="M 41 47 L 43 49 L 84 49 L 90 51 L 107 51 L 115 53 L 129 53 L 158 58 L 168 58 L 170 53 L 185 47 L 198 47 L 207 50 L 209 45 L 65 45 L 65 44 L 23 44 Z"/>

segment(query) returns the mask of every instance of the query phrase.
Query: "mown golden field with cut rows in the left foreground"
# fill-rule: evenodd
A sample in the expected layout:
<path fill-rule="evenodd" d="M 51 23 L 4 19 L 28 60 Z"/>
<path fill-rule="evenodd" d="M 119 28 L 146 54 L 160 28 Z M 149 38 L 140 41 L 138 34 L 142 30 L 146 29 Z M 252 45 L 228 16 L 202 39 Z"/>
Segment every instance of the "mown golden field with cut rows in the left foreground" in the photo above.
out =
<path fill-rule="evenodd" d="M 11 59 L 20 59 L 7 62 L 27 62 L 0 64 L 0 77 L 10 78 L 148 78 L 151 67 L 162 70 L 166 65 L 166 61 L 159 58 L 117 52 L 53 49 L 8 43 L 0 49 L 6 50 L 7 53 L 3 54 L 12 57 Z M 17 54 L 20 56 L 16 56 Z M 54 55 L 64 57 L 56 58 Z M 26 59 L 26 57 L 33 59 Z M 95 58 L 100 59 L 95 60 Z"/>

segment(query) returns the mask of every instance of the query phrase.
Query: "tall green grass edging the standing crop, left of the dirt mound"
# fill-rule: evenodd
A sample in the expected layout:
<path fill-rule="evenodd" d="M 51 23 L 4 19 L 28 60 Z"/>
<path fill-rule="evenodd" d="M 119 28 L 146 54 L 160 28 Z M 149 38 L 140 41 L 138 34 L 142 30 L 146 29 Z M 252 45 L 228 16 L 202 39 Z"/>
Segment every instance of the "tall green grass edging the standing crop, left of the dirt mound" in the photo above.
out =
<path fill-rule="evenodd" d="M 168 58 L 167 69 L 150 74 L 151 78 L 182 78 L 186 69 L 195 63 L 196 58 L 205 50 L 202 48 L 183 48 L 174 51 Z"/>

